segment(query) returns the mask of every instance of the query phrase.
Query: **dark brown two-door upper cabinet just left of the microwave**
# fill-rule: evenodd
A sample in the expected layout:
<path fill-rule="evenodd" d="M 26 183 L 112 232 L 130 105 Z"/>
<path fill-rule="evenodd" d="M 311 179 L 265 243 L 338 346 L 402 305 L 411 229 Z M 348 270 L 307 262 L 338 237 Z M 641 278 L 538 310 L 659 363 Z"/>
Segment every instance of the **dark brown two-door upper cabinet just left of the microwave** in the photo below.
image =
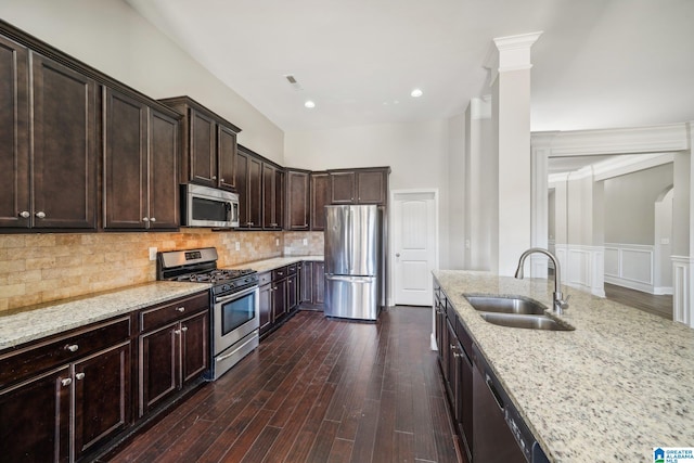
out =
<path fill-rule="evenodd" d="M 110 88 L 103 102 L 104 229 L 178 228 L 180 116 Z"/>

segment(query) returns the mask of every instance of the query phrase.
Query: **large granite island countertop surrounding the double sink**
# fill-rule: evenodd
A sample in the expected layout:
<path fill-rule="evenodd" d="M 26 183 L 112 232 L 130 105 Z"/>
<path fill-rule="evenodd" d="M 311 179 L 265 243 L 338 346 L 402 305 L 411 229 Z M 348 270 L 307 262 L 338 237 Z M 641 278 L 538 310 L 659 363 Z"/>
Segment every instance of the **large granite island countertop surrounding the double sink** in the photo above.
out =
<path fill-rule="evenodd" d="M 581 291 L 561 317 L 576 330 L 487 323 L 463 293 L 524 295 L 551 307 L 554 282 L 440 270 L 434 276 L 548 458 L 647 462 L 694 446 L 694 330 Z"/>

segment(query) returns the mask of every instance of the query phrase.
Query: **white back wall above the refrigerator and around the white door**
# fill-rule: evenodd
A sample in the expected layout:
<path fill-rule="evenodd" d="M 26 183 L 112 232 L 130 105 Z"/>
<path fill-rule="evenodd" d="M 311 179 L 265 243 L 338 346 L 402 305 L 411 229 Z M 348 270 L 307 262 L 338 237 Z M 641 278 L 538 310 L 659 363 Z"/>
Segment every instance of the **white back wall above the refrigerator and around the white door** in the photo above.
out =
<path fill-rule="evenodd" d="M 286 132 L 284 164 L 310 170 L 390 166 L 391 190 L 438 189 L 439 265 L 448 268 L 448 120 L 430 120 Z"/>

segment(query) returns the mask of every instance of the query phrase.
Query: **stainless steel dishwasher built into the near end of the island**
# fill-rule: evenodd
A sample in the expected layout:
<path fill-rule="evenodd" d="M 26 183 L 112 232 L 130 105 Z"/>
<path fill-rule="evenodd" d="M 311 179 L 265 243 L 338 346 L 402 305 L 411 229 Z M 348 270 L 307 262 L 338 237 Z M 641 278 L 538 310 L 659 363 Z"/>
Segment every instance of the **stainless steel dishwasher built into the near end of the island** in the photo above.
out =
<path fill-rule="evenodd" d="M 473 463 L 549 462 L 476 345 L 473 358 Z"/>

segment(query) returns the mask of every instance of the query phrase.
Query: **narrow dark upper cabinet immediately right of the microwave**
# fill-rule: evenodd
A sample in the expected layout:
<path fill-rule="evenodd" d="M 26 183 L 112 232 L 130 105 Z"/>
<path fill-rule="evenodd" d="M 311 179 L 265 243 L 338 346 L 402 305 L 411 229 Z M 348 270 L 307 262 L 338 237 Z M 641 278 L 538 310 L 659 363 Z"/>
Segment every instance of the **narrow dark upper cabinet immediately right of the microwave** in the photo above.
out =
<path fill-rule="evenodd" d="M 245 146 L 236 153 L 239 228 L 262 228 L 262 158 Z"/>

